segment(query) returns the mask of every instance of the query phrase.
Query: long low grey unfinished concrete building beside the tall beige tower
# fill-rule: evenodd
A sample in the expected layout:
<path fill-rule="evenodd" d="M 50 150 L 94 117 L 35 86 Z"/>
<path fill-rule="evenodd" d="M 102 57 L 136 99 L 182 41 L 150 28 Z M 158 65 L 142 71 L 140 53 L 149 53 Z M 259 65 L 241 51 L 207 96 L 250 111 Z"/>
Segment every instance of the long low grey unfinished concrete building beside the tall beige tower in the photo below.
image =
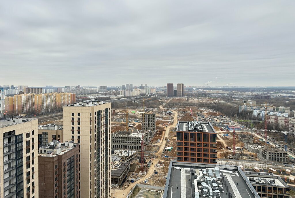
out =
<path fill-rule="evenodd" d="M 137 150 L 141 151 L 141 137 L 148 144 L 155 132 L 143 131 L 138 133 L 130 133 L 126 131 L 118 131 L 111 135 L 111 148 L 121 150 Z"/>

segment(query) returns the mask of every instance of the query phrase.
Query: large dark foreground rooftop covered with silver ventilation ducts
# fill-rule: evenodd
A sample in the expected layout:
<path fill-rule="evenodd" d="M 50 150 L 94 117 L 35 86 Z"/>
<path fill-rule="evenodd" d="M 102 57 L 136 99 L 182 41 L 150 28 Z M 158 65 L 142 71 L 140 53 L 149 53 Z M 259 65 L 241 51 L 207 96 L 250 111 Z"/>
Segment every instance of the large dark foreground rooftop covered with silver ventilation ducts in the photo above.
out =
<path fill-rule="evenodd" d="M 230 168 L 230 169 L 228 169 Z M 163 198 L 259 198 L 238 166 L 171 161 Z"/>

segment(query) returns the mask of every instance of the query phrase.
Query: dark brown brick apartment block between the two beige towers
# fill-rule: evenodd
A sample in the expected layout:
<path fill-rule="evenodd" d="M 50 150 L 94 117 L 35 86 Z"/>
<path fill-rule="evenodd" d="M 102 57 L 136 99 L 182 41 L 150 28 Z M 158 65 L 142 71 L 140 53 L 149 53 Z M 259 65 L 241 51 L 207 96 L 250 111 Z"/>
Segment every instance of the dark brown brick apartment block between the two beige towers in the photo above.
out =
<path fill-rule="evenodd" d="M 79 145 L 53 141 L 39 148 L 39 197 L 79 198 Z"/>

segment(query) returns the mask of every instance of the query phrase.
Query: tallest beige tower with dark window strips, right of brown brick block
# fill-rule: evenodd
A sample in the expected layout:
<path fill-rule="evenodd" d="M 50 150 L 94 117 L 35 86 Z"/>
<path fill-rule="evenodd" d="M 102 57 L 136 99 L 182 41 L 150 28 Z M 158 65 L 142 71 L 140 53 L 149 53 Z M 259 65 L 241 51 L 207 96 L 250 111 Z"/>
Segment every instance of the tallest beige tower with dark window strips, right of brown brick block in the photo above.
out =
<path fill-rule="evenodd" d="M 89 100 L 63 107 L 63 140 L 80 145 L 80 195 L 110 197 L 111 103 Z"/>

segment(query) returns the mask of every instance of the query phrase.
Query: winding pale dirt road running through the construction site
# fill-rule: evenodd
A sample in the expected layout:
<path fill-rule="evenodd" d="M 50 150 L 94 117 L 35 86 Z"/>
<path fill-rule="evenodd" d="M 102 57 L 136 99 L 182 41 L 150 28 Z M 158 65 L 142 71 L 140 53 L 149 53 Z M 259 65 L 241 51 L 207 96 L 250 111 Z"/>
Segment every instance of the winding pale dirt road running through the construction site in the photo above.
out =
<path fill-rule="evenodd" d="M 171 100 L 171 99 L 170 99 L 170 100 Z M 168 102 L 169 102 L 170 100 L 168 100 Z M 162 105 L 159 106 L 159 108 L 160 108 L 160 109 L 164 109 L 164 108 L 162 107 Z M 176 127 L 176 125 L 177 125 L 177 112 L 174 111 L 174 110 L 171 110 L 171 111 L 174 113 L 173 124 L 170 125 L 170 126 L 167 126 L 167 127 L 166 127 L 166 130 L 165 130 L 165 133 L 162 135 L 162 138 L 161 138 L 161 141 L 160 141 L 160 144 L 161 144 L 161 145 L 160 145 L 160 148 L 159 148 L 158 153 L 156 153 L 156 156 L 158 156 L 158 158 L 155 158 L 155 159 L 153 160 L 153 164 L 150 166 L 150 169 L 151 169 L 152 171 L 150 171 L 150 169 L 149 169 L 149 170 L 147 171 L 147 174 L 146 174 L 143 178 L 137 180 L 137 181 L 134 182 L 134 183 L 131 183 L 130 186 L 127 187 L 125 190 L 116 189 L 116 190 L 115 190 L 115 197 L 116 197 L 116 198 L 126 198 L 127 194 L 130 192 L 130 190 L 131 190 L 136 184 L 145 181 L 145 179 L 149 178 L 149 177 L 153 174 L 153 170 L 155 169 L 155 164 L 158 164 L 158 161 L 160 160 L 160 156 L 161 156 L 161 154 L 162 154 L 162 152 L 163 152 L 163 150 L 164 150 L 164 148 L 165 148 L 165 146 L 166 146 L 166 140 L 165 140 L 165 137 L 168 137 L 168 135 L 169 135 L 169 131 L 170 131 L 170 128 L 171 128 L 171 127 Z M 112 192 L 112 191 L 113 191 L 113 190 L 111 190 L 111 192 Z M 114 197 L 114 194 L 113 194 L 113 193 L 112 193 L 111 197 Z"/>

